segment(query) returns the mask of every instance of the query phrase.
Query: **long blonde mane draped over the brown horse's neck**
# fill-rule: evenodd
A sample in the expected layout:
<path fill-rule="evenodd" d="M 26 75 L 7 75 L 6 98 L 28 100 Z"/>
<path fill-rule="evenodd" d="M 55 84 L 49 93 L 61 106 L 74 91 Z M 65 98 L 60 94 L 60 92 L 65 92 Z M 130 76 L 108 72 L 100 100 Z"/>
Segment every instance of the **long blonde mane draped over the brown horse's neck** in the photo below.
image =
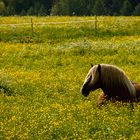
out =
<path fill-rule="evenodd" d="M 104 89 L 109 90 L 109 92 L 113 92 L 111 94 L 130 95 L 131 98 L 135 98 L 135 88 L 121 69 L 109 64 L 100 64 L 100 66 L 100 80 Z M 98 65 L 95 65 L 92 68 L 94 73 L 95 69 L 98 69 Z"/>

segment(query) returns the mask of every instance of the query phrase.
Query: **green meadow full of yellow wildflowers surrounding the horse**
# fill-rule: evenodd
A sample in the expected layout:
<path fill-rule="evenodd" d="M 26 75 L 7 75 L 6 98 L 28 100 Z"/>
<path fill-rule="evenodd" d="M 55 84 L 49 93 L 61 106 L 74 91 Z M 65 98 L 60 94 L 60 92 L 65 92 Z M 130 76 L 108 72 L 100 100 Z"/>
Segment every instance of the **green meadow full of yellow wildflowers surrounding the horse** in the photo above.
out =
<path fill-rule="evenodd" d="M 30 19 L 0 17 L 0 140 L 140 140 L 140 103 L 99 109 L 100 90 L 80 93 L 90 63 L 117 65 L 140 83 L 140 17 L 99 17 L 98 30 L 66 23 L 94 17 L 32 17 L 33 32 Z"/>

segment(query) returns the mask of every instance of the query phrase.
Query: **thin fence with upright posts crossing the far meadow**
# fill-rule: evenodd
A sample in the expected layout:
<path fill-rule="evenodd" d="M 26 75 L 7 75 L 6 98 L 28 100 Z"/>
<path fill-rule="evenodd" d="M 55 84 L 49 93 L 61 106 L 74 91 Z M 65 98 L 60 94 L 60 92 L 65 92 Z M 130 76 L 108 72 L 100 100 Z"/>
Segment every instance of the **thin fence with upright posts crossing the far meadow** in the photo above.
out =
<path fill-rule="evenodd" d="M 115 18 L 114 18 L 115 19 Z M 129 19 L 129 18 L 128 18 Z M 116 20 L 114 20 L 114 22 L 117 22 L 119 26 L 121 26 L 122 23 L 133 23 L 134 21 L 135 22 L 139 22 L 140 21 L 140 18 L 134 18 L 133 20 L 126 20 L 126 19 L 119 19 L 119 18 L 116 18 Z M 72 20 L 72 21 L 64 21 L 64 22 L 35 22 L 33 18 L 30 18 L 30 22 L 28 23 L 14 23 L 14 24 L 0 24 L 0 28 L 2 27 L 11 27 L 12 29 L 16 30 L 17 27 L 20 27 L 20 26 L 28 26 L 30 28 L 30 32 L 31 32 L 31 37 L 34 36 L 34 33 L 35 33 L 35 28 L 36 26 L 49 26 L 49 25 L 73 25 L 73 24 L 80 24 L 80 23 L 92 23 L 93 26 L 94 26 L 94 29 L 95 29 L 95 33 L 98 32 L 99 30 L 99 23 L 100 22 L 103 22 L 104 23 L 104 26 L 105 25 L 105 22 L 113 22 L 113 21 L 107 21 L 106 20 L 106 17 L 103 17 L 103 19 L 101 19 L 100 17 L 97 17 L 95 16 L 94 18 L 92 19 L 89 19 L 89 20 Z M 113 26 L 114 26 L 114 23 L 113 23 Z M 118 27 L 119 27 L 118 26 Z M 108 26 L 108 28 L 110 28 Z"/>

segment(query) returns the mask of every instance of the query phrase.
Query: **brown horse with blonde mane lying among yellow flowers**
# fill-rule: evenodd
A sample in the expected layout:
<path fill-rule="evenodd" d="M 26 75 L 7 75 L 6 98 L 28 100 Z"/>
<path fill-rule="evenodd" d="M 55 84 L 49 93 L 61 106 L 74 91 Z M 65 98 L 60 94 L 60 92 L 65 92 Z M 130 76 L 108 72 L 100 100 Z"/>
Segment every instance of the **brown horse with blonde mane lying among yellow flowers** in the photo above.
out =
<path fill-rule="evenodd" d="M 125 73 L 114 65 L 93 66 L 85 78 L 81 92 L 88 96 L 90 91 L 99 88 L 103 92 L 98 97 L 98 105 L 105 99 L 132 102 L 140 98 L 140 85 L 131 82 Z"/>

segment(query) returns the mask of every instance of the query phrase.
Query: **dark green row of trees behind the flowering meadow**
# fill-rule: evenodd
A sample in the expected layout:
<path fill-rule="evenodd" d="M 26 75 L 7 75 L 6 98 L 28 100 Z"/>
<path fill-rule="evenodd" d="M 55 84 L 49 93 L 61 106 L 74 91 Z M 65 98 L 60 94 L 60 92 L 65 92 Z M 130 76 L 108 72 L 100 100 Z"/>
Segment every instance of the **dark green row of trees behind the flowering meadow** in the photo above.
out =
<path fill-rule="evenodd" d="M 0 0 L 0 15 L 139 16 L 140 0 Z"/>

